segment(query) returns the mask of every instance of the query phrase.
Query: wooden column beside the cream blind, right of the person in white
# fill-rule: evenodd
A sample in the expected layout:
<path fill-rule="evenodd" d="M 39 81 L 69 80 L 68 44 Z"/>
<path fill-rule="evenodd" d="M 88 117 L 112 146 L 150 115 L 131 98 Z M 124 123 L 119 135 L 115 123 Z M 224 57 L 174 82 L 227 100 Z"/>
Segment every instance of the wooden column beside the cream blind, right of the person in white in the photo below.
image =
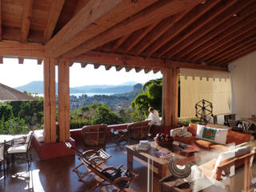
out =
<path fill-rule="evenodd" d="M 164 126 L 178 124 L 178 69 L 162 70 L 162 121 Z"/>

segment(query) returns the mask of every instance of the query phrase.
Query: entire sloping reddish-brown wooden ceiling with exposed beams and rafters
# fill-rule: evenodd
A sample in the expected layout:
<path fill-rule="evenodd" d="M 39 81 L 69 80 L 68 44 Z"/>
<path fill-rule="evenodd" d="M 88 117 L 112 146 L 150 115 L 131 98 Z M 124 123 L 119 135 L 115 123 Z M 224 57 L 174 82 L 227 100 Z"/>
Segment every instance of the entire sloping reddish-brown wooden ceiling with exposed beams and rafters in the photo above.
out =
<path fill-rule="evenodd" d="M 126 71 L 227 70 L 256 50 L 256 0 L 0 0 L 0 55 Z"/>

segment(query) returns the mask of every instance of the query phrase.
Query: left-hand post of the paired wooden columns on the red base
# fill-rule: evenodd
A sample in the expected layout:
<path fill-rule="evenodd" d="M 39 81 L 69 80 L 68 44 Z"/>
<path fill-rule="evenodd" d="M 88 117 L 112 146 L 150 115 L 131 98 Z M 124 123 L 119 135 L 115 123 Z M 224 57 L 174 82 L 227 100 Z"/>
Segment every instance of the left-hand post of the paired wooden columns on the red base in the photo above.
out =
<path fill-rule="evenodd" d="M 44 74 L 44 132 L 45 142 L 56 142 L 56 98 L 55 98 L 55 63 L 54 58 L 45 58 Z"/>

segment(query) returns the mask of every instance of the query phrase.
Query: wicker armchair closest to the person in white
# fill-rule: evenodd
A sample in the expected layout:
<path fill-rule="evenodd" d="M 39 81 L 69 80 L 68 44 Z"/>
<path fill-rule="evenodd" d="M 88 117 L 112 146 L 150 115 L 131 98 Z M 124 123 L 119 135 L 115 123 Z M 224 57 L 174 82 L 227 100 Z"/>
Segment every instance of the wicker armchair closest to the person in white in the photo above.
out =
<path fill-rule="evenodd" d="M 133 122 L 127 126 L 130 139 L 147 138 L 150 121 Z"/>

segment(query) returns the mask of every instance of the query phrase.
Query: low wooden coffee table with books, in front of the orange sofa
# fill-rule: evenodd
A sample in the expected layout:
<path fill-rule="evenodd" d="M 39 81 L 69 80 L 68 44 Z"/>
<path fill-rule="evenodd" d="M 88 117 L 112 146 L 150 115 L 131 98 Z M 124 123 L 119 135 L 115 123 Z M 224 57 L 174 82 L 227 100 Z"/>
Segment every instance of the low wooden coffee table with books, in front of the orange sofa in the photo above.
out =
<path fill-rule="evenodd" d="M 158 158 L 157 153 L 159 150 L 167 150 L 164 147 L 158 146 L 156 142 L 151 142 L 151 147 L 150 150 L 148 151 L 142 151 L 142 150 L 137 150 L 136 145 L 130 145 L 126 146 L 127 150 L 127 166 L 128 169 L 132 170 L 133 169 L 133 163 L 134 163 L 134 156 L 137 158 L 142 159 L 145 162 L 150 162 L 153 164 L 154 167 L 158 169 L 158 174 L 157 176 L 159 178 L 165 177 L 166 176 L 166 170 L 168 169 L 168 162 L 169 159 L 164 159 L 164 158 Z M 180 159 L 186 159 L 190 161 L 189 158 L 186 158 L 185 155 L 181 154 L 182 149 L 178 146 L 174 146 L 172 150 L 169 150 L 171 154 L 171 158 L 180 158 Z"/>

